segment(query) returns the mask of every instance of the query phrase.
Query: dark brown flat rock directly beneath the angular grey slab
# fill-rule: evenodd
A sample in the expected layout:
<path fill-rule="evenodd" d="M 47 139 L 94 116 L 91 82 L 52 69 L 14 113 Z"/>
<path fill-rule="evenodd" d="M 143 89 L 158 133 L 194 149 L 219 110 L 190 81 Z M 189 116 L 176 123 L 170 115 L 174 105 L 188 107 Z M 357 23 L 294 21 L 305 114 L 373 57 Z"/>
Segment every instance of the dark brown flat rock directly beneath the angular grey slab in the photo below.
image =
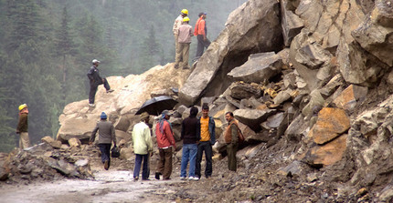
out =
<path fill-rule="evenodd" d="M 232 83 L 229 87 L 230 96 L 236 99 L 250 98 L 251 96 L 260 97 L 260 88 L 247 83 Z"/>

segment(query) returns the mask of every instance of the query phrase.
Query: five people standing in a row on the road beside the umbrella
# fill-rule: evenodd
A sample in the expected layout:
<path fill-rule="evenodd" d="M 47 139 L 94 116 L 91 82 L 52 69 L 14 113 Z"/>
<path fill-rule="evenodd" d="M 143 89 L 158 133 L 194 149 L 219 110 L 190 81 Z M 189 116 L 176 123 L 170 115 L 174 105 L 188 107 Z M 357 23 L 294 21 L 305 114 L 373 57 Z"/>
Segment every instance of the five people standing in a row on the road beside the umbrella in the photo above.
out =
<path fill-rule="evenodd" d="M 202 117 L 197 117 L 197 107 L 190 108 L 190 116 L 186 117 L 182 122 L 181 139 L 183 140 L 183 154 L 181 160 L 180 179 L 185 180 L 199 180 L 201 174 L 202 157 L 205 154 L 206 168 L 205 177 L 210 178 L 213 173 L 213 149 L 212 146 L 216 143 L 216 124 L 213 117 L 208 116 L 209 107 L 207 104 L 202 106 Z M 157 140 L 157 147 L 159 153 L 159 160 L 156 167 L 155 178 L 167 180 L 170 179 L 172 174 L 172 157 L 175 151 L 175 137 L 172 125 L 169 122 L 171 114 L 168 110 L 163 111 L 159 121 L 155 127 L 155 136 Z M 147 119 L 146 119 L 147 118 Z M 234 119 L 232 112 L 227 112 L 226 119 L 228 127 L 225 133 L 225 140 L 228 144 L 228 169 L 232 171 L 237 170 L 236 152 L 239 147 L 239 126 Z M 148 157 L 152 156 L 153 147 L 150 138 L 150 130 L 147 126 L 148 115 L 143 113 L 141 115 L 141 123 L 133 127 L 133 147 L 135 148 L 135 167 L 133 170 L 134 180 L 138 180 L 139 171 L 143 158 L 143 179 L 149 177 L 149 160 Z M 143 130 L 140 130 L 143 126 Z M 228 137 L 228 138 L 227 138 Z M 137 148 L 143 147 L 141 152 Z M 139 154 L 142 153 L 142 154 Z"/>

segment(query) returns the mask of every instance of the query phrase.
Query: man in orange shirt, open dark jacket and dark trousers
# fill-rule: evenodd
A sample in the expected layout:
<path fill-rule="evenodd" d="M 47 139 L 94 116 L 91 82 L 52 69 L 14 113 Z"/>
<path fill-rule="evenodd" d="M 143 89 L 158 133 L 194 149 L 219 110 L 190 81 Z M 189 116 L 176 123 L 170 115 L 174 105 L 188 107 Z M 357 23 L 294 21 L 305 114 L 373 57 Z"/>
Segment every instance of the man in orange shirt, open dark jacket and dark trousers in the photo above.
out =
<path fill-rule="evenodd" d="M 213 117 L 208 116 L 207 104 L 202 105 L 202 117 L 198 119 L 197 135 L 201 137 L 197 145 L 197 164 L 196 176 L 201 178 L 201 166 L 203 152 L 205 151 L 206 169 L 205 176 L 210 178 L 213 173 L 213 149 L 212 146 L 216 143 L 216 124 Z"/>

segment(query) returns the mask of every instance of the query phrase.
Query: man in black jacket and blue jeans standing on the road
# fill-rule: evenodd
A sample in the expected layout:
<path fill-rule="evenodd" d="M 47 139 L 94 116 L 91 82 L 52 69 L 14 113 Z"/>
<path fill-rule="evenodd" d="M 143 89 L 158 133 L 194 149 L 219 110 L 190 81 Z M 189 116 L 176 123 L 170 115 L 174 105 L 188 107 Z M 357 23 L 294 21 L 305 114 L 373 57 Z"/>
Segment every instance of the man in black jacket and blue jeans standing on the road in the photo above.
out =
<path fill-rule="evenodd" d="M 188 171 L 189 180 L 198 180 L 195 177 L 196 157 L 197 157 L 197 142 L 200 137 L 197 134 L 198 119 L 197 119 L 197 107 L 191 107 L 190 116 L 186 117 L 182 123 L 181 139 L 183 139 L 183 155 L 180 179 L 186 179 L 186 169 L 188 161 L 190 167 Z"/>

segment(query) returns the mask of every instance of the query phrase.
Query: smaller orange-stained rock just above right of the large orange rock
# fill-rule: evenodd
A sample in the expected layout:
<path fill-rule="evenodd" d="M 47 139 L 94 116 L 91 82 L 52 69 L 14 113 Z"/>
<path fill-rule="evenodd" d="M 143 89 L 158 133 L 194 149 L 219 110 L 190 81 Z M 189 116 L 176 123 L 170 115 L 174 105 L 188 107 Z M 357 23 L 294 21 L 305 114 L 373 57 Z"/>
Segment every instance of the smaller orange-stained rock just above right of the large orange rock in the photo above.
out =
<path fill-rule="evenodd" d="M 336 107 L 343 108 L 346 110 L 353 110 L 356 107 L 357 102 L 362 102 L 367 94 L 366 86 L 348 86 L 336 97 L 333 103 Z"/>

